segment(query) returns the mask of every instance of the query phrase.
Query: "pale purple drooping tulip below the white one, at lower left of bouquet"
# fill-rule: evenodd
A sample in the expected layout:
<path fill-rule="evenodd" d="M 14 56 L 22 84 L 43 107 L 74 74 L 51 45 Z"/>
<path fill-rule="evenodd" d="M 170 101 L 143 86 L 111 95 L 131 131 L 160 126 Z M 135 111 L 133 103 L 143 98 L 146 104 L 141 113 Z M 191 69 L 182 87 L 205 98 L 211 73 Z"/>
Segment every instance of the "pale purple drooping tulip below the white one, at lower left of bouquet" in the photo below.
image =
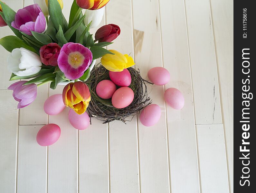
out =
<path fill-rule="evenodd" d="M 18 101 L 17 108 L 23 108 L 30 105 L 36 98 L 37 86 L 32 83 L 29 85 L 24 85 L 27 81 L 18 81 L 11 84 L 8 89 L 13 90 L 13 97 Z"/>

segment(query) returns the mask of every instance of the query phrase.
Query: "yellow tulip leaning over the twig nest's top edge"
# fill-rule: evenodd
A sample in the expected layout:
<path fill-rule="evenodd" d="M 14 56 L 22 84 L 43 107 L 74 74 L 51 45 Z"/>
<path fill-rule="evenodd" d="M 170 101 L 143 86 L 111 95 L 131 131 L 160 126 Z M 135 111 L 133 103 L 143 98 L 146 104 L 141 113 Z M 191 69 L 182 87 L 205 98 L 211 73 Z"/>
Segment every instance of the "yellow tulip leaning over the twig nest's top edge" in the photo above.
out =
<path fill-rule="evenodd" d="M 113 54 L 106 54 L 101 58 L 101 64 L 106 69 L 112 72 L 121 72 L 124 69 L 127 69 L 133 66 L 134 60 L 132 57 L 128 56 L 127 54 L 121 54 L 119 51 L 116 50 L 109 50 Z"/>

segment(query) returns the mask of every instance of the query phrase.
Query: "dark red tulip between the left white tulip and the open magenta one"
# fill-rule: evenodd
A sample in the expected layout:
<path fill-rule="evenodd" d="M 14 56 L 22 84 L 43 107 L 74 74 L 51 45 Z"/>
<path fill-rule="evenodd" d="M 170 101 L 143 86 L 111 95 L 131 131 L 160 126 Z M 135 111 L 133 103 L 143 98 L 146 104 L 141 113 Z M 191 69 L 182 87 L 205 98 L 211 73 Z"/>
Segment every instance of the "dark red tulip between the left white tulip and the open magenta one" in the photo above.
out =
<path fill-rule="evenodd" d="M 58 56 L 60 55 L 61 47 L 57 43 L 49 43 L 40 48 L 40 58 L 46 66 L 57 66 Z"/>

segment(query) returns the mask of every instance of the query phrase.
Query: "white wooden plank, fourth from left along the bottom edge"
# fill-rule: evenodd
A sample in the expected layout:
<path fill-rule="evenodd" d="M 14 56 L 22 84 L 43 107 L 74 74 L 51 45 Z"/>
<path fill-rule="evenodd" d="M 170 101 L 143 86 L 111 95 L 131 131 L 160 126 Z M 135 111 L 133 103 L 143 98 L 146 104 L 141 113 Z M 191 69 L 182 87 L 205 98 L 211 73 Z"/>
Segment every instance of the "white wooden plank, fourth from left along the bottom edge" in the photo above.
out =
<path fill-rule="evenodd" d="M 99 26 L 90 33 L 95 34 L 105 23 L 104 14 Z M 109 192 L 108 124 L 95 118 L 91 122 L 88 129 L 78 131 L 79 192 Z"/>

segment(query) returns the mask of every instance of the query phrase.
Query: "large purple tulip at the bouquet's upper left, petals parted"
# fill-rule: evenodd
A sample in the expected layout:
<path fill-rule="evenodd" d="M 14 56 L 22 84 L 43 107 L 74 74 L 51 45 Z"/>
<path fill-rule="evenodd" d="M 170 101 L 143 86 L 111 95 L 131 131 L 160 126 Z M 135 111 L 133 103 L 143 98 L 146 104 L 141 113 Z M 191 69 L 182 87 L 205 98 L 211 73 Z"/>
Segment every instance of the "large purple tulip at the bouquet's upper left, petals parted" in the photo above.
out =
<path fill-rule="evenodd" d="M 46 20 L 38 4 L 19 9 L 12 22 L 12 27 L 32 35 L 31 31 L 42 33 L 46 27 Z"/>

